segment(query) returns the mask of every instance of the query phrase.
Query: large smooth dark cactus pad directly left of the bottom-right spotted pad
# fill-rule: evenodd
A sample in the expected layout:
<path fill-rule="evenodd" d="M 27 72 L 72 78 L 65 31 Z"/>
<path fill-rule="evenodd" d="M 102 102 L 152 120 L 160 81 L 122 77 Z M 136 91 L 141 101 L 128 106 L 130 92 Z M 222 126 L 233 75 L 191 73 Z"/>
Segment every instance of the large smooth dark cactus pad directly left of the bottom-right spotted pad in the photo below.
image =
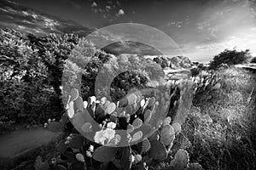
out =
<path fill-rule="evenodd" d="M 164 144 L 161 144 L 158 140 L 151 140 L 151 149 L 149 150 L 149 156 L 154 160 L 163 161 L 167 158 L 167 150 Z"/>

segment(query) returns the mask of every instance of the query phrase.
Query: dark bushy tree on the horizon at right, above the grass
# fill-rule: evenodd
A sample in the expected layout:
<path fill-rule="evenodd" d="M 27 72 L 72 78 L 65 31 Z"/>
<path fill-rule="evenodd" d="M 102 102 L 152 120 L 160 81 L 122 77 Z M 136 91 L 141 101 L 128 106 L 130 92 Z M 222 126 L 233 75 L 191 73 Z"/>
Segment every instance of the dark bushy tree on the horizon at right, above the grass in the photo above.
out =
<path fill-rule="evenodd" d="M 252 58 L 250 50 L 246 49 L 245 51 L 237 51 L 236 48 L 233 50 L 225 49 L 218 55 L 215 55 L 212 61 L 210 62 L 210 69 L 218 69 L 219 65 L 238 65 L 245 64 L 249 62 Z"/>

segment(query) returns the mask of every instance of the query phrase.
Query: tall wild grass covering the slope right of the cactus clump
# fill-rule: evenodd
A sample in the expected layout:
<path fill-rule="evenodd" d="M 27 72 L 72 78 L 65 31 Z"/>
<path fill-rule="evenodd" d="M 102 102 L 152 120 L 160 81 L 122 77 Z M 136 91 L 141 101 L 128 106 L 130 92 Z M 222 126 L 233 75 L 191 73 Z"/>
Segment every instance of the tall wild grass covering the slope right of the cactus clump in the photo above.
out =
<path fill-rule="evenodd" d="M 256 75 L 237 68 L 216 74 L 222 87 L 194 99 L 183 125 L 190 160 L 212 170 L 256 169 Z"/>

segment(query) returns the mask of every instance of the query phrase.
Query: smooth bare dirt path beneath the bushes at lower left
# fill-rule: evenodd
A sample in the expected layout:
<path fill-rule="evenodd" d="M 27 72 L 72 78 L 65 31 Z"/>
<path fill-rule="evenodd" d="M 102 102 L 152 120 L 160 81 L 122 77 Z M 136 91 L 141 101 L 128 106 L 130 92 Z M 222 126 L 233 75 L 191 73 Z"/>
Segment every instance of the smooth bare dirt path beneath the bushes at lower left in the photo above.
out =
<path fill-rule="evenodd" d="M 26 151 L 38 148 L 57 139 L 61 133 L 53 133 L 43 127 L 23 129 L 0 136 L 0 157 L 14 158 Z"/>

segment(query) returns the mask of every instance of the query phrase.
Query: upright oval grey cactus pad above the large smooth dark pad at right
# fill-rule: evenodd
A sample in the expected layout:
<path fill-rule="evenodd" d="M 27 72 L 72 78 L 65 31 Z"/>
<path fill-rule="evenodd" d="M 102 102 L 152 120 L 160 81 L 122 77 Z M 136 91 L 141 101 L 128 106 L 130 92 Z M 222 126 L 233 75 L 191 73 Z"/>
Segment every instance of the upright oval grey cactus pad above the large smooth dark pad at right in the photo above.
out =
<path fill-rule="evenodd" d="M 165 145 L 172 144 L 173 140 L 175 139 L 174 129 L 171 125 L 167 124 L 162 127 L 160 131 L 160 142 Z"/>

